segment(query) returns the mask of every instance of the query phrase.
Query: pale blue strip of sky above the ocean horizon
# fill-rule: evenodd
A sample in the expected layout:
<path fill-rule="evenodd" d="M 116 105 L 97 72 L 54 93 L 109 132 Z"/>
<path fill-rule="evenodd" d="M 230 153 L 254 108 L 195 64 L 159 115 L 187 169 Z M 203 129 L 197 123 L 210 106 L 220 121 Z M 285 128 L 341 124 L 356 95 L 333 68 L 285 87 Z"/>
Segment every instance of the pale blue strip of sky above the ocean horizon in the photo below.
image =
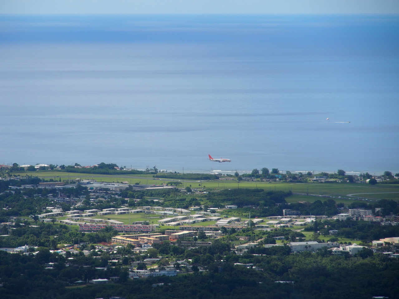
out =
<path fill-rule="evenodd" d="M 398 14 L 398 0 L 1 0 L 0 14 Z"/>

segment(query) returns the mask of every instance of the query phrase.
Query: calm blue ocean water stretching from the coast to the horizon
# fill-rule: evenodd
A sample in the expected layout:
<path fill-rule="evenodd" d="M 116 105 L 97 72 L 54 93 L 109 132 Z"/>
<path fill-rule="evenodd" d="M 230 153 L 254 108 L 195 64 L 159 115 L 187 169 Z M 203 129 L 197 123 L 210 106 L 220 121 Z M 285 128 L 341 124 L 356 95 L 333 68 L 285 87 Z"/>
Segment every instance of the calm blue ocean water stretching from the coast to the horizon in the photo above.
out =
<path fill-rule="evenodd" d="M 399 172 L 398 16 L 0 22 L 1 164 Z"/>

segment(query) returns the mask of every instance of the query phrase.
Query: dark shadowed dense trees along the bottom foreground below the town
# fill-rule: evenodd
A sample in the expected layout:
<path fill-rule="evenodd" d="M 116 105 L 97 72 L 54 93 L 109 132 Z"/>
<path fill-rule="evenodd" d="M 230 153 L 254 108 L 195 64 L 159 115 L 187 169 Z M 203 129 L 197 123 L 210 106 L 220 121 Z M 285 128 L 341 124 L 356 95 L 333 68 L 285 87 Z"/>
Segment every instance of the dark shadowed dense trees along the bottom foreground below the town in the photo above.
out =
<path fill-rule="evenodd" d="M 272 249 L 273 248 L 273 249 Z M 23 256 L 0 252 L 0 276 L 3 288 L 0 297 L 11 299 L 69 299 L 123 296 L 126 299 L 157 297 L 238 299 L 259 298 L 342 298 L 342 294 L 355 299 L 370 296 L 399 298 L 399 261 L 382 254 L 364 250 L 358 256 L 333 256 L 329 250 L 316 253 L 289 254 L 288 246 L 259 248 L 260 254 L 236 255 L 225 253 L 201 254 L 193 265 L 194 273 L 177 277 L 153 277 L 138 281 L 126 280 L 127 271 L 122 265 L 106 270 L 101 260 L 85 256 L 73 256 L 73 265 L 66 267 L 67 260 L 44 249 L 39 256 Z M 288 248 L 288 249 L 287 249 Z M 194 250 L 198 250 L 194 249 Z M 255 248 L 254 250 L 257 250 Z M 273 252 L 271 252 L 273 250 Z M 46 269 L 45 261 L 54 262 Z M 234 266 L 234 263 L 252 264 L 253 268 Z M 176 264 L 176 263 L 175 263 Z M 81 266 L 79 266 L 81 265 Z M 83 267 L 92 265 L 92 267 Z M 145 268 L 141 265 L 138 268 Z M 208 272 L 198 272 L 198 267 Z M 177 265 L 176 265 L 177 267 Z M 261 270 L 256 270 L 256 269 Z M 197 271 L 195 271 L 197 270 Z M 86 281 L 93 278 L 121 277 L 121 283 L 88 285 L 79 289 L 67 289 L 65 282 Z M 294 281 L 276 283 L 275 281 Z M 163 283 L 158 287 L 152 284 Z"/>

